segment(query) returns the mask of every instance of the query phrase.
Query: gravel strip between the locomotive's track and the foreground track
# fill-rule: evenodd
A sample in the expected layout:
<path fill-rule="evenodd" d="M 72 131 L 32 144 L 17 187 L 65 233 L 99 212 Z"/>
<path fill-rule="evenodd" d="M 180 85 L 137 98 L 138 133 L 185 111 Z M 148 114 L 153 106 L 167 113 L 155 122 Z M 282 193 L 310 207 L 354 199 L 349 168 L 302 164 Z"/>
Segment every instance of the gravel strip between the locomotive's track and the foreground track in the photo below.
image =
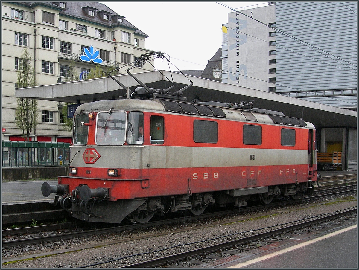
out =
<path fill-rule="evenodd" d="M 357 201 L 353 197 L 342 196 L 333 201 L 322 199 L 271 210 L 263 209 L 251 213 L 240 213 L 231 217 L 209 218 L 140 231 L 126 231 L 73 238 L 42 245 L 6 248 L 2 250 L 2 268 L 78 268 L 84 266 L 113 268 L 132 264 L 139 260 L 152 259 L 194 247 L 213 245 L 269 231 L 272 226 L 280 228 L 285 226 L 282 224 L 288 225 L 297 220 L 332 213 L 356 205 Z M 218 238 L 224 235 L 226 235 L 225 238 Z M 187 245 L 206 239 L 212 240 Z M 173 248 L 166 249 L 168 247 Z M 163 251 L 155 255 L 151 253 L 162 249 Z M 131 257 L 139 253 L 143 253 L 143 255 Z M 210 260 L 208 259 L 208 261 Z M 98 264 L 101 262 L 107 263 Z M 196 267 L 184 262 L 180 262 L 178 266 Z"/>

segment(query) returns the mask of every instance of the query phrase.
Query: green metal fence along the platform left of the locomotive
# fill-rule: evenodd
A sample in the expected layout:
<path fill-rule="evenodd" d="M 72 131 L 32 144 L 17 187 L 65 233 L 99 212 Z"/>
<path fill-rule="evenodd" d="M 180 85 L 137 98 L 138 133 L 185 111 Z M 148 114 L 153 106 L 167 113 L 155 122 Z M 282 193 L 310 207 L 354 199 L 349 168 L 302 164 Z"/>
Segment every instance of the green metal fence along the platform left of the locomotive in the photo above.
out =
<path fill-rule="evenodd" d="M 3 141 L 3 167 L 67 166 L 70 143 Z"/>

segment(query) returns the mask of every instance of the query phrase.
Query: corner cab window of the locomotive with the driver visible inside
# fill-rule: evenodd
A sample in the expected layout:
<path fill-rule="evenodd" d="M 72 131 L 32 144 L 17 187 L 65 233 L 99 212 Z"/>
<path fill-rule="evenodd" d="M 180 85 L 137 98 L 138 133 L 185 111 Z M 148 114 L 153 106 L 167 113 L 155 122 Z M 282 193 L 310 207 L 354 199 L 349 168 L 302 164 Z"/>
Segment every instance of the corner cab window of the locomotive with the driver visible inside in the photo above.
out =
<path fill-rule="evenodd" d="M 143 112 L 130 112 L 127 123 L 127 143 L 143 144 Z"/>

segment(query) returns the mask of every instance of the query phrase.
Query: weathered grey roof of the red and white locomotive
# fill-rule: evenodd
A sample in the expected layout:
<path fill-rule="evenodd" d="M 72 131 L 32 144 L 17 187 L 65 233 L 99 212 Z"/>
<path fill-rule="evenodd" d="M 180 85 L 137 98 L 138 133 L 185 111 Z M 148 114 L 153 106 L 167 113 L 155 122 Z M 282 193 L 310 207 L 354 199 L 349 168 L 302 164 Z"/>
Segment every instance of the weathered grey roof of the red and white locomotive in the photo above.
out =
<path fill-rule="evenodd" d="M 113 99 L 94 101 L 81 104 L 76 109 L 75 114 L 80 113 L 81 110 L 88 113 L 91 111 L 109 111 L 110 108 L 112 108 L 112 110 L 124 111 L 158 111 L 181 113 L 185 115 L 202 115 L 213 118 L 225 118 L 228 120 L 246 121 L 252 123 L 268 123 L 314 128 L 314 125 L 309 122 L 304 122 L 300 118 L 286 117 L 283 115 L 283 113 L 276 111 L 266 111 L 256 108 L 253 109 L 253 111 L 248 111 L 239 108 L 227 108 L 214 105 L 211 106 L 160 99 Z"/>

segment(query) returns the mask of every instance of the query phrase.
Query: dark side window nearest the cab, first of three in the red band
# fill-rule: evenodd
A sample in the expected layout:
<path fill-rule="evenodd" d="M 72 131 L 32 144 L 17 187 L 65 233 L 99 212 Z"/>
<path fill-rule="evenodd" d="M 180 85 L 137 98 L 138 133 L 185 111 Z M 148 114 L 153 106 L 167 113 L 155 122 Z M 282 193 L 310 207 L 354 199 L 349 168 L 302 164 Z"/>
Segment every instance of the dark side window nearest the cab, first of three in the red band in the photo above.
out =
<path fill-rule="evenodd" d="M 193 122 L 193 140 L 196 143 L 217 143 L 218 123 L 215 121 L 195 120 Z"/>

